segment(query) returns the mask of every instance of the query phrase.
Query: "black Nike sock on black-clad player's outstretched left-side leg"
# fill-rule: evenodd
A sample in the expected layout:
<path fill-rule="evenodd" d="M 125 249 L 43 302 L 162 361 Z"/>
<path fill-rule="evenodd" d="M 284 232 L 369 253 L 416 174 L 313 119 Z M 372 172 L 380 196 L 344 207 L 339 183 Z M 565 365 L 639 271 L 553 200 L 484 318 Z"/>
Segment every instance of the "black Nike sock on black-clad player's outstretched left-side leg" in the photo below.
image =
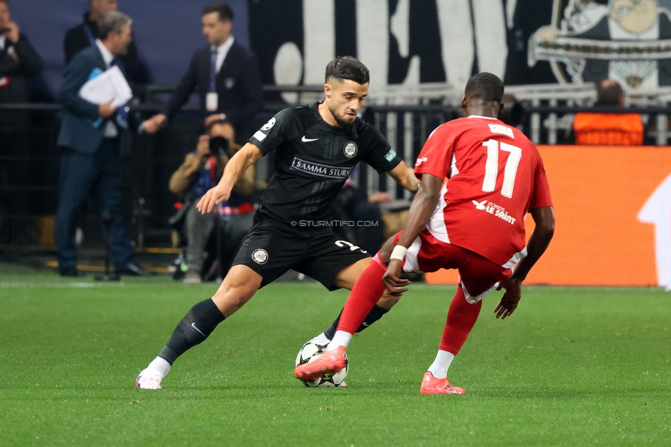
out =
<path fill-rule="evenodd" d="M 166 347 L 158 356 L 172 365 L 181 354 L 205 341 L 223 320 L 224 316 L 219 312 L 212 298 L 201 301 L 191 307 L 186 316 L 181 319 Z"/>

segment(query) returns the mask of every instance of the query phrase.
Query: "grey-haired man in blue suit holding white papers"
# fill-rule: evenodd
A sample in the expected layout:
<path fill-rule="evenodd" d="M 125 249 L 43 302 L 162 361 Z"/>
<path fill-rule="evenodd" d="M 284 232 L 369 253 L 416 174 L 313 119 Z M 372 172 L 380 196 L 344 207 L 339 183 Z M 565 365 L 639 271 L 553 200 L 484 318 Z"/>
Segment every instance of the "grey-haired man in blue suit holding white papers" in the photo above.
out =
<path fill-rule="evenodd" d="M 80 88 L 92 72 L 104 72 L 118 65 L 132 41 L 130 17 L 112 11 L 100 19 L 100 39 L 82 50 L 65 67 L 58 100 L 63 105 L 63 122 L 58 134 L 61 155 L 61 186 L 56 210 L 58 270 L 62 276 L 82 276 L 76 268 L 74 223 L 78 208 L 89 193 L 94 195 L 103 217 L 103 234 L 109 237 L 109 254 L 118 273 L 146 275 L 137 266 L 131 241 L 124 228 L 122 212 L 122 162 L 120 133 L 128 127 L 112 100 L 93 104 L 80 98 Z M 124 73 L 125 74 L 125 73 Z"/>

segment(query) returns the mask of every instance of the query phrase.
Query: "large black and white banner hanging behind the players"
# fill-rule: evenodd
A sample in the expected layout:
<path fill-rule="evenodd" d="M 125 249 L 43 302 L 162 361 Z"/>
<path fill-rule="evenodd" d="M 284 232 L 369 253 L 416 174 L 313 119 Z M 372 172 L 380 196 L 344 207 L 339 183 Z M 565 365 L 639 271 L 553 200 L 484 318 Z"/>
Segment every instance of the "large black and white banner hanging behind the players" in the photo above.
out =
<path fill-rule="evenodd" d="M 671 0 L 250 0 L 263 83 L 318 85 L 336 55 L 371 70 L 371 90 L 476 72 L 507 85 L 615 78 L 671 85 Z"/>

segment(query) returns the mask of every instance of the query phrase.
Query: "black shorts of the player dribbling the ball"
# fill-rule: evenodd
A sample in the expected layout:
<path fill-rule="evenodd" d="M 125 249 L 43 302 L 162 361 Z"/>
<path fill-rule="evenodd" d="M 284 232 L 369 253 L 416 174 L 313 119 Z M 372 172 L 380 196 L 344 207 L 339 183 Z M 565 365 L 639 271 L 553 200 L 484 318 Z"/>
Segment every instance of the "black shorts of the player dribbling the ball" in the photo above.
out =
<path fill-rule="evenodd" d="M 340 287 L 333 285 L 338 273 L 373 254 L 340 239 L 333 232 L 306 235 L 285 232 L 263 222 L 254 225 L 233 265 L 247 265 L 263 276 L 261 287 L 289 270 L 296 270 L 316 279 L 329 290 L 338 290 Z"/>

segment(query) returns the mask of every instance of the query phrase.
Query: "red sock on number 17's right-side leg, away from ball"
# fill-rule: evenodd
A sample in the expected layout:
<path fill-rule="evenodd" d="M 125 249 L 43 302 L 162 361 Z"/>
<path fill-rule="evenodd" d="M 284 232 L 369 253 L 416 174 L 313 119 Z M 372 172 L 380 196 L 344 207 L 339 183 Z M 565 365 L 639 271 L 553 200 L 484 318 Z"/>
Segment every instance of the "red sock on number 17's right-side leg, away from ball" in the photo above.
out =
<path fill-rule="evenodd" d="M 450 303 L 448 320 L 445 322 L 439 349 L 451 352 L 456 356 L 471 329 L 473 329 L 478 315 L 480 315 L 480 309 L 482 309 L 482 301 L 478 301 L 476 304 L 466 301 L 460 284 L 456 289 L 454 298 L 452 298 L 452 303 Z"/>

